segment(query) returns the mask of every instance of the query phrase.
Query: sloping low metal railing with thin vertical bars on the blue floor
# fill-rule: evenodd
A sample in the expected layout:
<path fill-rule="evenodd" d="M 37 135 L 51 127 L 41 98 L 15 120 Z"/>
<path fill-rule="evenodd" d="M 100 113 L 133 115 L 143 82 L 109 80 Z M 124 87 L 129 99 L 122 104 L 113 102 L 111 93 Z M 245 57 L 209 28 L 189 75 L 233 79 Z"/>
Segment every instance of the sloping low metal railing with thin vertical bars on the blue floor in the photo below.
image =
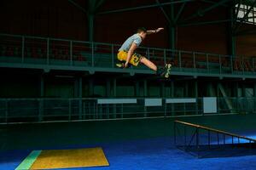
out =
<path fill-rule="evenodd" d="M 212 151 L 214 149 L 218 149 L 219 152 L 219 149 L 224 149 L 224 146 L 230 145 L 232 148 L 235 145 L 247 147 L 248 144 L 249 148 L 252 149 L 253 144 L 254 146 L 256 144 L 256 139 L 212 127 L 181 121 L 174 121 L 173 125 L 174 144 L 176 147 L 197 157 L 209 156 L 207 152 L 214 153 Z M 224 150 L 224 152 L 227 151 Z"/>

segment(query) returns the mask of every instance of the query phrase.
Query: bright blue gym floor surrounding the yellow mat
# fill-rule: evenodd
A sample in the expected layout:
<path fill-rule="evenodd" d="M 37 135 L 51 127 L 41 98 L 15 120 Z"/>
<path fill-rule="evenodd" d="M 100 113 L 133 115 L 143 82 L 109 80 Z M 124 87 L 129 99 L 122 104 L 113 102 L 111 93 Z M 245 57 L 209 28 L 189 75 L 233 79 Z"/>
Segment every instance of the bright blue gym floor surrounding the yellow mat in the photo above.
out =
<path fill-rule="evenodd" d="M 101 146 L 109 167 L 86 167 L 89 170 L 175 170 L 175 169 L 256 169 L 255 156 L 200 158 L 177 150 L 170 137 L 129 140 L 108 144 L 75 145 L 67 148 Z M 52 148 L 40 148 L 40 150 Z M 63 148 L 54 148 L 63 149 Z M 0 153 L 0 169 L 15 169 L 31 150 L 13 150 Z"/>

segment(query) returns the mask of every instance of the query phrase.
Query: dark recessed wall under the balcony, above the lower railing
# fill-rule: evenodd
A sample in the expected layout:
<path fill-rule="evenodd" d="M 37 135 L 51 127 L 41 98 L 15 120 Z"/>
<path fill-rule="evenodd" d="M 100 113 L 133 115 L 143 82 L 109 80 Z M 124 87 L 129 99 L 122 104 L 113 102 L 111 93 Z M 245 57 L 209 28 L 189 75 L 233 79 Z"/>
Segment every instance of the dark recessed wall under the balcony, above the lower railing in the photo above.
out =
<path fill-rule="evenodd" d="M 79 77 L 82 77 L 82 97 L 195 97 L 195 82 L 198 84 L 198 97 L 222 97 L 218 87 L 221 83 L 228 97 L 252 97 L 253 80 L 228 79 L 210 77 L 172 77 L 171 81 L 160 80 L 152 75 L 122 76 L 119 74 L 96 73 L 86 76 L 69 72 L 1 69 L 0 98 L 77 98 Z M 43 77 L 44 87 L 41 87 Z M 113 81 L 116 79 L 116 95 Z M 146 81 L 147 90 L 144 86 Z M 91 83 L 91 84 L 90 84 Z M 138 86 L 136 84 L 138 83 Z M 174 88 L 172 89 L 172 84 Z M 138 87 L 138 88 L 137 88 Z M 255 86 L 256 87 L 256 86 Z M 210 90 L 212 89 L 212 90 Z M 42 96 L 41 96 L 42 93 Z"/>

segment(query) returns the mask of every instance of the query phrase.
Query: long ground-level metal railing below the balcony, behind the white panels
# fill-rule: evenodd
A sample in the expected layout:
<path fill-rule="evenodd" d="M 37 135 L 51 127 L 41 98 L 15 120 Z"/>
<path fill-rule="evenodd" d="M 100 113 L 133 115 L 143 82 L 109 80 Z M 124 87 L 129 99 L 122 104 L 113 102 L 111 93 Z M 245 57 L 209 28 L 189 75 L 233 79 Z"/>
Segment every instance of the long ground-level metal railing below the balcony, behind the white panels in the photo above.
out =
<path fill-rule="evenodd" d="M 218 98 L 215 114 L 254 113 L 255 98 L 228 98 L 232 111 L 224 98 Z M 203 99 L 196 103 L 166 103 L 161 106 L 145 106 L 144 99 L 137 104 L 98 104 L 97 99 L 0 99 L 0 123 L 50 122 L 124 119 L 139 117 L 202 116 Z"/>

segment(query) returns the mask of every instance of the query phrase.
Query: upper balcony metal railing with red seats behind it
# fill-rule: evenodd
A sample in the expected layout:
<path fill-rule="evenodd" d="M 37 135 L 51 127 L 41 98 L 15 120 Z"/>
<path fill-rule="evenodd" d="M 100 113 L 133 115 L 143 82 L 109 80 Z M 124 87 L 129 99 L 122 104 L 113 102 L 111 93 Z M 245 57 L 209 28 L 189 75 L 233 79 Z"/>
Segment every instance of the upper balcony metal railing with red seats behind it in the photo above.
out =
<path fill-rule="evenodd" d="M 49 65 L 73 66 L 84 70 L 101 68 L 102 71 L 110 71 L 115 68 L 119 47 L 119 44 L 103 42 L 0 34 L 0 64 L 43 65 L 43 69 Z M 151 59 L 156 65 L 172 63 L 173 74 L 255 75 L 252 57 L 145 47 L 139 48 L 137 53 Z M 148 71 L 143 65 L 126 71 L 131 70 Z"/>

